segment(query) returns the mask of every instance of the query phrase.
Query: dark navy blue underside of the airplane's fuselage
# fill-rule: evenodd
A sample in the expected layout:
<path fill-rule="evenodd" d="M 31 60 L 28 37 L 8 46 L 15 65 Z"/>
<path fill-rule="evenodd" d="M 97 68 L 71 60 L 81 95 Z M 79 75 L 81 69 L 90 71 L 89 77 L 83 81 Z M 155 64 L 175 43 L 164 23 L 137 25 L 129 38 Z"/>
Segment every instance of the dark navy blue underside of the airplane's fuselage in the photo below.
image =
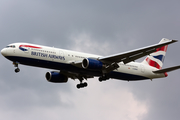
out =
<path fill-rule="evenodd" d="M 64 64 L 64 63 L 59 63 L 59 62 L 54 62 L 54 61 L 46 61 L 46 60 L 39 60 L 39 59 L 26 58 L 26 57 L 16 57 L 16 56 L 6 56 L 6 58 L 14 62 L 19 62 L 20 64 L 23 64 L 23 65 L 70 71 L 74 73 L 81 73 L 81 74 L 92 75 L 92 76 L 102 76 L 101 71 L 86 70 L 83 68 L 75 67 L 71 64 Z M 143 76 L 114 72 L 114 71 L 110 72 L 108 76 L 110 78 L 121 79 L 121 80 L 131 80 L 131 81 L 149 79 Z"/>

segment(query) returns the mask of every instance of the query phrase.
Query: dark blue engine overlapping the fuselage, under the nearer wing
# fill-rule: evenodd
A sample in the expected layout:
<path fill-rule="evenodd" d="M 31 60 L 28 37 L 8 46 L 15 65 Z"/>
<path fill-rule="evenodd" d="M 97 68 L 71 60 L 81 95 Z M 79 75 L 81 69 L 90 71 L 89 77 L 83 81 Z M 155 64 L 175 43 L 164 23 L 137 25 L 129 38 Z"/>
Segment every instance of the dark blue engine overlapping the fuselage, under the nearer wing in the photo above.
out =
<path fill-rule="evenodd" d="M 90 70 L 101 70 L 103 67 L 103 63 L 99 60 L 85 58 L 82 61 L 82 67 L 84 69 L 90 69 Z"/>

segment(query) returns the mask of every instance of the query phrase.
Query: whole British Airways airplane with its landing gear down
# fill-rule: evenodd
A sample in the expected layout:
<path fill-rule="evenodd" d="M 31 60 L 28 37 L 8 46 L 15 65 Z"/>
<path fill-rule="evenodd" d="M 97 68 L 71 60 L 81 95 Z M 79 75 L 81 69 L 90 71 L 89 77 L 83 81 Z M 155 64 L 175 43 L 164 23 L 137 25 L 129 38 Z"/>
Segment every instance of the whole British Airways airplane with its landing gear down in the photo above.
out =
<path fill-rule="evenodd" d="M 1 54 L 18 65 L 28 65 L 53 69 L 45 77 L 52 83 L 66 83 L 68 78 L 78 79 L 77 88 L 87 87 L 88 78 L 99 77 L 99 81 L 110 78 L 125 81 L 138 81 L 167 77 L 167 72 L 179 69 L 180 66 L 162 69 L 167 47 L 177 40 L 163 38 L 158 44 L 118 53 L 100 56 L 82 52 L 58 49 L 30 43 L 12 43 L 1 50 Z M 142 62 L 135 60 L 146 56 Z"/>

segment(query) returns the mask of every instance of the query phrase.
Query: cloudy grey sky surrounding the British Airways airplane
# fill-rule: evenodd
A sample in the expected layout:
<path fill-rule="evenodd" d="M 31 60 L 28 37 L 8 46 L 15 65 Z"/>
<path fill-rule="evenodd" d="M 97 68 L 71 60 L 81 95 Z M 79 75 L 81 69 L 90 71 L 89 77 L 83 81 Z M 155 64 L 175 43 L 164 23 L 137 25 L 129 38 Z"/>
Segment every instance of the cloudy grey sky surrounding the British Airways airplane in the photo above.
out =
<path fill-rule="evenodd" d="M 0 0 L 0 48 L 29 42 L 100 55 L 180 40 L 178 0 Z M 163 67 L 180 64 L 180 43 L 168 47 Z M 0 118 L 6 120 L 179 120 L 179 71 L 152 82 L 88 80 L 52 84 L 51 71 L 0 57 Z M 142 60 L 142 59 L 141 59 Z M 141 61 L 138 60 L 138 61 Z"/>

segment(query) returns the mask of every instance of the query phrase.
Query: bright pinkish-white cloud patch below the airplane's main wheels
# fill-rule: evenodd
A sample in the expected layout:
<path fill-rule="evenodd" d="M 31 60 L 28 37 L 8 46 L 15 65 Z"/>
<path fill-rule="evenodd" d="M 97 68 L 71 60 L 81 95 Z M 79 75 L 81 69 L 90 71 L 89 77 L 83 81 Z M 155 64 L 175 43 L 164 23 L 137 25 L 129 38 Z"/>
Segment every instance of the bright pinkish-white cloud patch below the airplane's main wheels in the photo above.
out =
<path fill-rule="evenodd" d="M 134 99 L 128 89 L 123 87 L 117 89 L 110 83 L 98 88 L 97 84 L 91 83 L 93 87 L 86 91 L 86 97 L 83 99 L 82 93 L 77 95 L 79 99 L 76 102 L 81 102 L 77 106 L 78 111 L 84 111 L 88 116 L 92 115 L 90 119 L 140 119 L 147 113 L 147 104 Z"/>

